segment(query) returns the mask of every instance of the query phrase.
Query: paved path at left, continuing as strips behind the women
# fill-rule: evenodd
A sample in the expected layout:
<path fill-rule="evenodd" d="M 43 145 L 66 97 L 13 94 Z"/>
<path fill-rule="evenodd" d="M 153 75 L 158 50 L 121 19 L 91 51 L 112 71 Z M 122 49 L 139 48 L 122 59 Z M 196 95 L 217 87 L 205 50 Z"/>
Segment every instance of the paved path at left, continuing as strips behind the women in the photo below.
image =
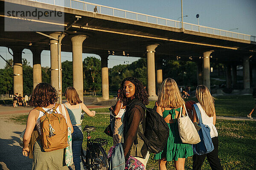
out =
<path fill-rule="evenodd" d="M 87 105 L 88 108 L 104 108 L 104 106 Z M 0 105 L 0 170 L 31 170 L 32 159 L 22 156 L 19 145 L 20 133 L 26 125 L 10 122 L 10 117 L 29 113 L 32 108 Z M 109 114 L 109 113 L 104 113 Z M 217 119 L 247 120 L 247 117 L 217 116 Z"/>

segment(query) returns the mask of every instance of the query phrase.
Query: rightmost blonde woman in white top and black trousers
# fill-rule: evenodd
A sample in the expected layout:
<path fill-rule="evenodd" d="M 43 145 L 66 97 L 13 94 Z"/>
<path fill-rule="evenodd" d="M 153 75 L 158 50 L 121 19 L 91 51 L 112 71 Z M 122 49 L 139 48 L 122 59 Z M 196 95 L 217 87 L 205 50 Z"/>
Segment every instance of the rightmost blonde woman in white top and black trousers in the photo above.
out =
<path fill-rule="evenodd" d="M 195 91 L 195 96 L 198 99 L 196 104 L 201 112 L 201 118 L 204 125 L 210 128 L 210 136 L 214 149 L 210 153 L 203 155 L 193 155 L 193 170 L 201 170 L 205 157 L 209 161 L 212 170 L 223 170 L 221 162 L 218 158 L 218 131 L 215 127 L 216 113 L 214 107 L 214 98 L 210 94 L 209 89 L 205 85 L 198 85 Z M 198 122 L 198 117 L 193 107 L 193 122 Z"/>

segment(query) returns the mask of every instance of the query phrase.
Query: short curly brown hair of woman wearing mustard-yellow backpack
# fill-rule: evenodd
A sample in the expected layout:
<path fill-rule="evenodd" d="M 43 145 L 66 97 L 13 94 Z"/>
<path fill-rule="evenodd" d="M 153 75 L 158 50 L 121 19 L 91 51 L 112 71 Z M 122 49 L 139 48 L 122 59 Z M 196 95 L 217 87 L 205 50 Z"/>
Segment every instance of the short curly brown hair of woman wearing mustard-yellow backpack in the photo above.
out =
<path fill-rule="evenodd" d="M 52 85 L 41 82 L 35 86 L 29 100 L 29 105 L 34 107 L 47 107 L 58 101 L 58 93 Z"/>

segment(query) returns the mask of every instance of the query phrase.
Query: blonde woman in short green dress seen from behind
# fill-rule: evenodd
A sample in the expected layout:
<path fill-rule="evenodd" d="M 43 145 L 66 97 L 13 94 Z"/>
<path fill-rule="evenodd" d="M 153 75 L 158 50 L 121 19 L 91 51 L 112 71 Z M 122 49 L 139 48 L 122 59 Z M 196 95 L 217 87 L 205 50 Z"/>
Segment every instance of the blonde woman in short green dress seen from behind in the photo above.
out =
<path fill-rule="evenodd" d="M 160 170 L 167 170 L 167 161 L 172 160 L 174 160 L 176 170 L 184 170 L 185 159 L 193 155 L 191 144 L 181 142 L 178 130 L 177 117 L 180 109 L 183 114 L 186 112 L 182 108 L 183 103 L 185 102 L 175 80 L 165 79 L 161 85 L 156 105 L 157 113 L 163 116 L 170 131 L 166 147 L 162 152 L 154 155 L 154 159 L 158 159 Z"/>

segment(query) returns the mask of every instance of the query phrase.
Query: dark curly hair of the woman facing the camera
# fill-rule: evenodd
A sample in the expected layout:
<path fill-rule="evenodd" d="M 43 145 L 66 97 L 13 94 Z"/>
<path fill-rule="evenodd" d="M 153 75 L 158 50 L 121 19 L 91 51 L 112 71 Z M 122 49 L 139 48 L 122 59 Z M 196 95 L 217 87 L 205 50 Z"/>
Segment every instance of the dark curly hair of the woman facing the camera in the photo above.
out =
<path fill-rule="evenodd" d="M 123 79 L 123 81 L 121 82 L 120 90 L 122 93 L 120 93 L 118 95 L 118 98 L 123 103 L 123 105 L 127 106 L 131 102 L 131 98 L 127 98 L 124 94 L 125 91 L 124 91 L 123 86 L 124 86 L 125 81 L 132 82 L 135 85 L 135 94 L 134 94 L 135 99 L 140 100 L 140 102 L 142 102 L 143 105 L 148 105 L 149 104 L 148 92 L 144 88 L 143 83 L 135 77 L 127 77 L 127 78 Z"/>

